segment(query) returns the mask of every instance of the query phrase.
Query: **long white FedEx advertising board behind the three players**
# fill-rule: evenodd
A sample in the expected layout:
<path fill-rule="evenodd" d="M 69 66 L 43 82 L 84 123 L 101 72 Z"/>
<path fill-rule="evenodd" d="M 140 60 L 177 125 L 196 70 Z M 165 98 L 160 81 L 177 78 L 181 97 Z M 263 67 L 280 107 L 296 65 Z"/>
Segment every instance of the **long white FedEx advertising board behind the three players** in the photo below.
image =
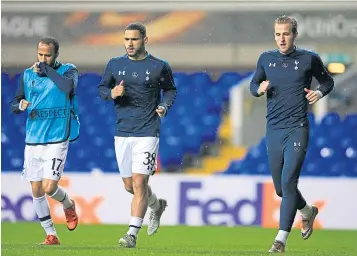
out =
<path fill-rule="evenodd" d="M 61 186 L 77 203 L 87 224 L 127 224 L 130 201 L 117 174 L 66 174 Z M 159 174 L 150 184 L 168 200 L 162 225 L 278 227 L 280 198 L 268 176 L 191 176 Z M 319 207 L 316 228 L 357 229 L 357 179 L 301 178 L 299 189 Z M 49 198 L 51 215 L 63 223 L 62 206 Z M 37 221 L 29 183 L 20 173 L 2 173 L 2 221 Z M 297 214 L 294 227 L 300 226 Z M 147 219 L 145 220 L 147 222 Z"/>

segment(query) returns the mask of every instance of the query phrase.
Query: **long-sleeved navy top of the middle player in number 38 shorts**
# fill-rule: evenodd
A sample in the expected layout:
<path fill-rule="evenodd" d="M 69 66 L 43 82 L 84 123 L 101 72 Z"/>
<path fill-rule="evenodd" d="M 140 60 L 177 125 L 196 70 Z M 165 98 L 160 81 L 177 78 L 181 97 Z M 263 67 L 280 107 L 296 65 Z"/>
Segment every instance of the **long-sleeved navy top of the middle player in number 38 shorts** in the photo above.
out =
<path fill-rule="evenodd" d="M 113 100 L 111 90 L 121 81 L 124 95 Z M 160 117 L 155 110 L 159 105 L 168 110 L 176 99 L 169 64 L 150 54 L 143 60 L 127 55 L 110 59 L 98 87 L 102 99 L 114 101 L 115 136 L 119 137 L 158 137 Z"/>

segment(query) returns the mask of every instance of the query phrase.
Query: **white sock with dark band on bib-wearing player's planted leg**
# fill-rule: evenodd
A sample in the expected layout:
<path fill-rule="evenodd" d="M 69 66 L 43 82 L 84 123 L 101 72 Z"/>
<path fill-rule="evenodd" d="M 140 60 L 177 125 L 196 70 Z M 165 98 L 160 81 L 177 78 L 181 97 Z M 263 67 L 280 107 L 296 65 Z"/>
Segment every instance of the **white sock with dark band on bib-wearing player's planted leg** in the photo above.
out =
<path fill-rule="evenodd" d="M 55 226 L 53 225 L 51 219 L 50 207 L 48 205 L 46 196 L 37 198 L 33 197 L 33 206 L 38 218 L 40 219 L 41 226 L 45 230 L 46 234 L 57 236 Z"/>

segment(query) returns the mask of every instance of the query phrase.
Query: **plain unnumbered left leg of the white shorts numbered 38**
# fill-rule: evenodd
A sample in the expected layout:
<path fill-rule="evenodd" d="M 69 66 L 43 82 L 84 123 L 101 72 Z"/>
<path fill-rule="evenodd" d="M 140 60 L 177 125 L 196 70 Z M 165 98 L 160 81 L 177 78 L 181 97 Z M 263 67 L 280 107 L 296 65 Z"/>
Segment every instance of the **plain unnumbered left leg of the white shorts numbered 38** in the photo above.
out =
<path fill-rule="evenodd" d="M 114 137 L 115 155 L 117 158 L 120 176 L 129 178 L 132 176 L 132 138 Z"/>

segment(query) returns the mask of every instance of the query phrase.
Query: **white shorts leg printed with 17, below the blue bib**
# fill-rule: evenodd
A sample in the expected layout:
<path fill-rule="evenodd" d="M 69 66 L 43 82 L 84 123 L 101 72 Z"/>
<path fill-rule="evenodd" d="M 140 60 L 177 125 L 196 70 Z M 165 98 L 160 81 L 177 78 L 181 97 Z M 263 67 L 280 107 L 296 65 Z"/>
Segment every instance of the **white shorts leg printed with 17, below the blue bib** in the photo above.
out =
<path fill-rule="evenodd" d="M 43 152 L 43 178 L 58 182 L 67 159 L 69 141 L 46 145 Z"/>

